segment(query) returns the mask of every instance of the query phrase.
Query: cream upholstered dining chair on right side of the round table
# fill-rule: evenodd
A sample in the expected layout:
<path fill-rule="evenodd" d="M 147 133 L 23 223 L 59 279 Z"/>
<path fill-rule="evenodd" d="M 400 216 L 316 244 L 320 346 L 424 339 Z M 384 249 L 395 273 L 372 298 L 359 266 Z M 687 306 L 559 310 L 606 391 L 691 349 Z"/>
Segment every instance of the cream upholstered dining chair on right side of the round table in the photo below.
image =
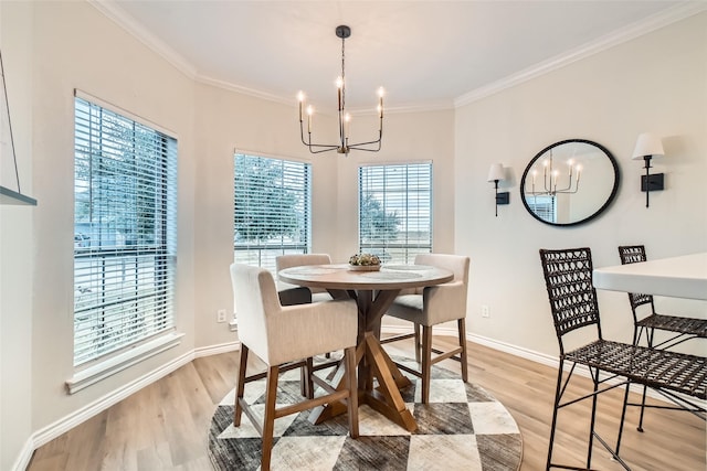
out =
<path fill-rule="evenodd" d="M 415 265 L 430 265 L 445 268 L 454 272 L 454 279 L 443 285 L 422 288 L 415 293 L 400 295 L 388 311 L 387 315 L 403 319 L 414 324 L 413 334 L 403 334 L 381 340 L 390 343 L 402 339 L 415 339 L 415 360 L 421 364 L 421 371 L 398 364 L 422 379 L 422 403 L 430 399 L 430 371 L 434 363 L 446 358 L 458 360 L 462 364 L 462 379 L 468 381 L 466 362 L 466 293 L 468 291 L 469 258 L 461 255 L 420 254 L 415 257 Z M 443 322 L 456 321 L 458 329 L 458 347 L 442 352 L 432 347 L 432 327 Z M 420 327 L 422 327 L 422 343 L 420 342 Z M 432 353 L 436 356 L 432 357 Z"/>

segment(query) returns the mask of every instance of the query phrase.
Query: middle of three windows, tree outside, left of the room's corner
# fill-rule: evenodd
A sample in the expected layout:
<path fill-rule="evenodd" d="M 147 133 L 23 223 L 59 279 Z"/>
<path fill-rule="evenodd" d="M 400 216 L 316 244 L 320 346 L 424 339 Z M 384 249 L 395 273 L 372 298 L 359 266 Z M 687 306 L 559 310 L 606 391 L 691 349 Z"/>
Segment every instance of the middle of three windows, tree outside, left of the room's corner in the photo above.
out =
<path fill-rule="evenodd" d="M 310 165 L 235 154 L 234 260 L 275 270 L 275 257 L 310 251 Z"/>

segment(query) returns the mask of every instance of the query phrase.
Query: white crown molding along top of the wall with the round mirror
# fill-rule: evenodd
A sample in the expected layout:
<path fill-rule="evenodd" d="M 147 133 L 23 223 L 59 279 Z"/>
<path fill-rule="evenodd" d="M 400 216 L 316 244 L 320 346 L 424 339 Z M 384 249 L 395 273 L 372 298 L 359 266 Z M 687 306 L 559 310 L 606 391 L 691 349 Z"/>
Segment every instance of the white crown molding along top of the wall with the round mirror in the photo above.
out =
<path fill-rule="evenodd" d="M 566 65 L 569 65 L 573 62 L 606 51 L 613 46 L 659 30 L 661 28 L 665 28 L 672 23 L 701 13 L 703 11 L 707 11 L 707 2 L 689 1 L 667 9 L 661 13 L 653 14 L 645 20 L 635 22 L 611 34 L 606 34 L 599 40 L 587 43 L 567 53 L 559 54 L 547 61 L 542 61 L 534 66 L 525 68 L 516 74 L 509 75 L 508 77 L 505 77 L 489 85 L 468 92 L 454 100 L 454 107 L 458 108 L 473 101 L 477 101 L 487 96 L 503 92 L 506 88 L 514 87 L 524 82 L 564 67 Z"/>

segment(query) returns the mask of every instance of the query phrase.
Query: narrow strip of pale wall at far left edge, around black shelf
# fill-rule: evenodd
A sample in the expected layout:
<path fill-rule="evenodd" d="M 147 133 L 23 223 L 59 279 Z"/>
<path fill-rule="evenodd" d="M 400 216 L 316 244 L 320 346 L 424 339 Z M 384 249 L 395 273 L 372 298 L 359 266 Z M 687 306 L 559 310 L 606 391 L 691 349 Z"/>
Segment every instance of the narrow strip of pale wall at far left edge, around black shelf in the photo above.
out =
<path fill-rule="evenodd" d="M 23 194 L 32 185 L 32 21 L 22 2 L 0 2 L 0 49 Z M 4 113 L 4 110 L 2 110 Z M 2 140 L 9 136 L 2 136 Z M 2 159 L 11 156 L 2 154 Z M 14 167 L 2 175 L 17 190 Z M 7 169 L 7 167 L 2 167 Z M 6 183 L 6 179 L 11 184 Z M 32 431 L 32 206 L 0 206 L 0 469 L 8 470 Z"/>

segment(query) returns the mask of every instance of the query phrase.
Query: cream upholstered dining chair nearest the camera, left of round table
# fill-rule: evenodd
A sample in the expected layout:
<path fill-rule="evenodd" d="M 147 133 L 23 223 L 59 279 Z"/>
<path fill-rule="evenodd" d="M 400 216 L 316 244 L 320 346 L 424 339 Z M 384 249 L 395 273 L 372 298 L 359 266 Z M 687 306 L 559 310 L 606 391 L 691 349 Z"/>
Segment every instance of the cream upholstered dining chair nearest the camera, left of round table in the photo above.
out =
<path fill-rule="evenodd" d="M 356 336 L 358 308 L 356 301 L 331 300 L 310 304 L 285 306 L 279 303 L 272 274 L 260 267 L 232 264 L 231 281 L 239 320 L 241 361 L 235 394 L 233 425 L 241 425 L 245 413 L 263 439 L 261 469 L 268 470 L 273 448 L 275 419 L 324 404 L 342 400 L 348 406 L 349 435 L 358 437 L 358 390 L 356 382 Z M 307 368 L 306 358 L 344 350 L 346 388 L 318 381 L 325 394 L 303 402 L 276 408 L 277 379 L 283 371 L 293 367 Z M 246 376 L 247 356 L 255 353 L 267 365 L 265 411 L 262 425 L 244 399 L 245 384 L 263 377 Z"/>

